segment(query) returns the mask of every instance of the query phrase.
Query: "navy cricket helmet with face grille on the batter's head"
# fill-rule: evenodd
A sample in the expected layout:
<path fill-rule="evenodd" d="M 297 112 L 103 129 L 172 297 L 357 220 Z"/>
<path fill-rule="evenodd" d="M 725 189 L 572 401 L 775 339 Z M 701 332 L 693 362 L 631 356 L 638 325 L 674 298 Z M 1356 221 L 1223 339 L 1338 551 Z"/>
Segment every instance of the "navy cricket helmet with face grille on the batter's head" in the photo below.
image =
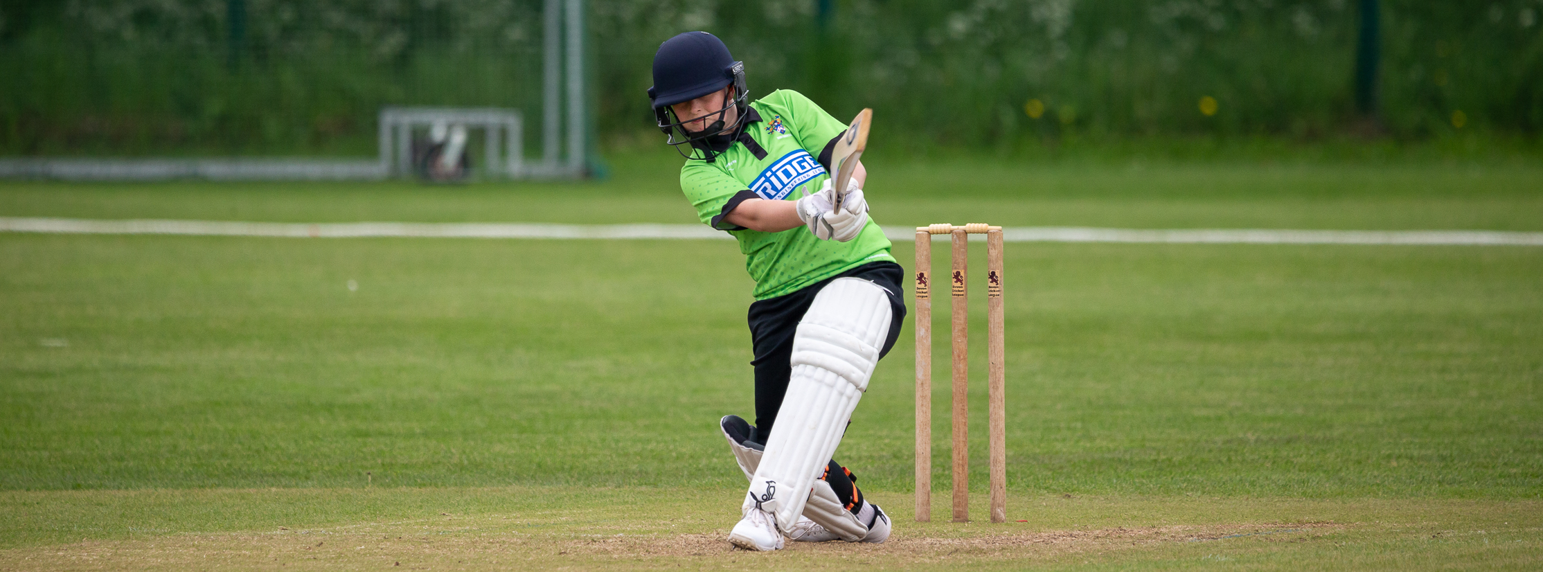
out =
<path fill-rule="evenodd" d="M 690 102 L 693 99 L 734 86 L 734 97 L 725 100 L 724 106 L 708 116 L 717 116 L 707 130 L 687 131 L 685 123 L 701 117 L 676 117 L 671 105 Z M 707 145 L 710 137 L 733 137 L 745 122 L 745 65 L 734 62 L 724 40 L 708 32 L 685 32 L 659 45 L 654 52 L 654 86 L 648 88 L 648 100 L 654 108 L 654 119 L 659 131 L 670 136 L 668 145 L 680 151 L 688 159 L 713 159 L 716 145 Z M 738 108 L 734 125 L 725 125 L 724 114 L 730 106 Z M 679 145 L 702 151 L 702 157 L 693 157 Z"/>

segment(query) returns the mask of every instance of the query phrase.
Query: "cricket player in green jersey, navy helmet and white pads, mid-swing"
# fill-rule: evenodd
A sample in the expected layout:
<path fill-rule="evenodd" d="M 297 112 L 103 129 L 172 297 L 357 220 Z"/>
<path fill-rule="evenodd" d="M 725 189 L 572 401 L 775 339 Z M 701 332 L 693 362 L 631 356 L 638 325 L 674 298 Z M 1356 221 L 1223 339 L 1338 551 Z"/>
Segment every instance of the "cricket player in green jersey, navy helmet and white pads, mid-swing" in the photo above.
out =
<path fill-rule="evenodd" d="M 900 335 L 906 271 L 869 219 L 861 165 L 832 207 L 830 154 L 847 125 L 788 89 L 751 102 L 744 63 L 708 32 L 663 42 L 653 72 L 657 126 L 687 157 L 680 191 L 704 224 L 739 241 L 756 281 L 756 422 L 719 421 L 750 479 L 728 541 L 883 543 L 889 516 L 832 455 Z"/>

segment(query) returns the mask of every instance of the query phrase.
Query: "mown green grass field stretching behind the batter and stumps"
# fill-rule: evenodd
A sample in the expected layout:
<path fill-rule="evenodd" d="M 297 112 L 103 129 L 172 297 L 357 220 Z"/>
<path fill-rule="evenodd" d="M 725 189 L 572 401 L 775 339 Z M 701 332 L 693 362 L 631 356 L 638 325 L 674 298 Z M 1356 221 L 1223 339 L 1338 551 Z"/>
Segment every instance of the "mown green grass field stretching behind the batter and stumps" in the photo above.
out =
<path fill-rule="evenodd" d="M 693 220 L 668 168 L 617 173 L 5 182 L 0 216 Z M 1543 230 L 1543 168 L 1514 165 L 895 165 L 869 199 L 898 225 Z M 722 541 L 714 422 L 751 413 L 731 242 L 0 234 L 0 569 L 1543 563 L 1543 248 L 1006 253 L 1014 523 L 910 523 L 907 327 L 839 452 L 893 541 L 753 555 Z"/>

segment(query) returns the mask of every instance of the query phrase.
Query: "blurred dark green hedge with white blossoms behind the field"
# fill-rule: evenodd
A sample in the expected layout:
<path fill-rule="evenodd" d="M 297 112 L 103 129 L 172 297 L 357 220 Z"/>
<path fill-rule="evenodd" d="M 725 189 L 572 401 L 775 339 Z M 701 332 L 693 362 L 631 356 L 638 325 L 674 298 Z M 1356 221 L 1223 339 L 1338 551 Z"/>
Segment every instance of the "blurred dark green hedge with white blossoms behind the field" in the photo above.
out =
<path fill-rule="evenodd" d="M 221 0 L 0 2 L 0 154 L 367 154 L 381 105 L 539 123 L 540 0 L 241 5 L 233 42 Z M 653 51 L 687 29 L 724 37 L 755 93 L 872 106 L 915 148 L 1543 131 L 1543 0 L 1381 2 L 1378 122 L 1355 108 L 1353 0 L 819 6 L 589 2 L 599 133 L 647 133 Z"/>

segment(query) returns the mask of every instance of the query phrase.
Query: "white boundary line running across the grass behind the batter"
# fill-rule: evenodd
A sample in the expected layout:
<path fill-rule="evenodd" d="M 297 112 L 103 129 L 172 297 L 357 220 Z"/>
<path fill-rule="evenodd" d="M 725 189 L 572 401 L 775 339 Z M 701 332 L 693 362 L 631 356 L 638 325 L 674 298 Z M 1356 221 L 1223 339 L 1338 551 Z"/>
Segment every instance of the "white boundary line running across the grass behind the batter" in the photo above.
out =
<path fill-rule="evenodd" d="M 469 239 L 730 239 L 705 225 L 566 225 L 545 222 L 227 222 L 0 217 L 0 233 L 185 234 L 276 237 L 469 237 Z M 890 227 L 890 241 L 913 241 L 912 227 Z M 934 239 L 947 239 L 935 236 Z M 977 237 L 978 239 L 978 237 Z M 1168 244 L 1369 244 L 1369 245 L 1521 245 L 1543 247 L 1543 233 L 1484 230 L 1139 230 L 1086 227 L 1008 227 L 1006 242 L 1168 242 Z"/>

